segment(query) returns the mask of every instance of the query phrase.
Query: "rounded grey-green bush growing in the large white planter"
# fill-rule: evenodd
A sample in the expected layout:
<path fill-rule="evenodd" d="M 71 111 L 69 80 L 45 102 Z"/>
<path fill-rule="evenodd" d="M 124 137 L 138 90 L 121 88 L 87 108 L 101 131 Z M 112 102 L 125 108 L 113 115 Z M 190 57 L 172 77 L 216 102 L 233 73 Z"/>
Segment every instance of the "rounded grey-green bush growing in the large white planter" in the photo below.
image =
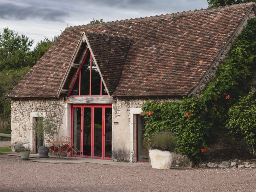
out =
<path fill-rule="evenodd" d="M 174 152 L 176 141 L 174 135 L 168 131 L 162 131 L 154 134 L 149 140 L 152 149 L 159 149 L 161 151 Z"/>

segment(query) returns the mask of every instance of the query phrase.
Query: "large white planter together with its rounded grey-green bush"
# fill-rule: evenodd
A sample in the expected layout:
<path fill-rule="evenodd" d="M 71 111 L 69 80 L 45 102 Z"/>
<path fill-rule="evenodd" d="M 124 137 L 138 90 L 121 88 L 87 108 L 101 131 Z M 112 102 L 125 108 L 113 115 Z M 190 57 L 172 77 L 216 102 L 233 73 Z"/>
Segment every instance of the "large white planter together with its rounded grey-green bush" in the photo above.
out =
<path fill-rule="evenodd" d="M 149 139 L 149 144 L 152 168 L 170 169 L 176 146 L 174 135 L 168 131 L 158 132 Z"/>

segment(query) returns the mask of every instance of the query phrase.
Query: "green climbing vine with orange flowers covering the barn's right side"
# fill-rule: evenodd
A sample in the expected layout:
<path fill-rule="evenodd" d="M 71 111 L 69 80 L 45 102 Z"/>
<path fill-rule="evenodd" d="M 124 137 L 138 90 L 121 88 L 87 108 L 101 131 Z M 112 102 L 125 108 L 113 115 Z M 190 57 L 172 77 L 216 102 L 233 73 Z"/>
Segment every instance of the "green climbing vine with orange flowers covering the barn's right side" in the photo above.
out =
<path fill-rule="evenodd" d="M 255 74 L 256 19 L 253 18 L 199 98 L 184 97 L 181 101 L 162 104 L 153 101 L 142 106 L 146 137 L 170 130 L 176 135 L 178 152 L 191 159 L 200 158 L 201 149 L 214 139 L 216 132 L 226 132 L 228 109 L 248 94 Z"/>

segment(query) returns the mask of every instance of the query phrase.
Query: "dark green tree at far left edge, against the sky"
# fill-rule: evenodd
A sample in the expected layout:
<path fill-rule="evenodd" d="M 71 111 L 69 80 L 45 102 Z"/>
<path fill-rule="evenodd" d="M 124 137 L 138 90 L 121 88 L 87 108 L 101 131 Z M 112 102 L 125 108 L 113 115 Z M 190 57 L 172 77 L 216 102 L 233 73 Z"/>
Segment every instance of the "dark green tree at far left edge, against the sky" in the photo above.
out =
<path fill-rule="evenodd" d="M 14 30 L 4 28 L 0 33 L 0 70 L 31 66 L 30 48 L 33 43 L 34 40 L 24 34 L 18 35 Z"/>

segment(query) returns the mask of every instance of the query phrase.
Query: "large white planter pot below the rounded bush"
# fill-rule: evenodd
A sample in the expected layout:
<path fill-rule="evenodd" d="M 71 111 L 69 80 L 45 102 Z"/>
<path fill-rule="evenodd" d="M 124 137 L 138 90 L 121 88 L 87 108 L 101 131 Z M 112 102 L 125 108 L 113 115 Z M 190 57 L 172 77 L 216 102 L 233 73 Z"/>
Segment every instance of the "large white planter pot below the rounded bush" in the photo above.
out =
<path fill-rule="evenodd" d="M 170 169 L 172 166 L 173 152 L 158 149 L 149 150 L 151 166 L 154 169 Z"/>

